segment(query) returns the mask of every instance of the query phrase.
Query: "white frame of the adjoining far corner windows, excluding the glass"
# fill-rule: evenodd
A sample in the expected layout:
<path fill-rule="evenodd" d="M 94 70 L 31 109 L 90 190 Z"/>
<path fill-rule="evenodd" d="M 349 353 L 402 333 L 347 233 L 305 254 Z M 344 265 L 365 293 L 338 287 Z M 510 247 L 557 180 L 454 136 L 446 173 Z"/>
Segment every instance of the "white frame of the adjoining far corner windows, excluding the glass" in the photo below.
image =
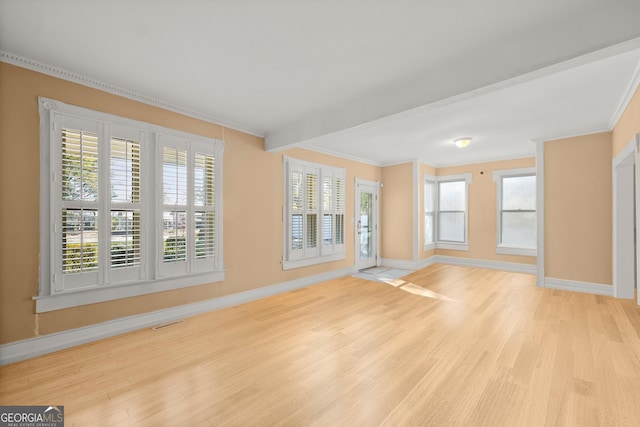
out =
<path fill-rule="evenodd" d="M 465 183 L 465 197 L 464 197 L 464 242 L 450 242 L 440 240 L 440 228 L 439 228 L 439 216 L 440 216 L 440 183 L 443 182 L 456 182 L 456 181 L 464 181 Z M 433 227 L 434 227 L 434 243 L 427 243 L 423 246 L 423 250 L 430 250 L 433 248 L 436 249 L 452 249 L 457 251 L 468 251 L 469 250 L 469 185 L 472 183 L 472 174 L 464 173 L 458 175 L 444 175 L 444 176 L 431 176 L 424 175 L 424 195 L 426 199 L 426 185 L 427 182 L 434 183 L 434 217 L 433 217 Z M 424 215 L 427 215 L 426 209 L 424 209 L 426 203 L 423 205 Z M 423 222 L 424 224 L 424 222 Z"/>

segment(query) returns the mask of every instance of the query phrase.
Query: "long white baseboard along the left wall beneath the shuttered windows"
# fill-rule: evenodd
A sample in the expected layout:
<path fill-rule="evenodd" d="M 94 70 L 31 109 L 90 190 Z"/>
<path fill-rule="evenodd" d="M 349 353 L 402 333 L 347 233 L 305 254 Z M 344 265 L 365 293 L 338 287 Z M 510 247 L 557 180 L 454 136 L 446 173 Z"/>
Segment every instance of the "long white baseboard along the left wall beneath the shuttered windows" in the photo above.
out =
<path fill-rule="evenodd" d="M 342 268 L 340 270 L 333 270 L 313 276 L 302 277 L 300 279 L 252 289 L 250 291 L 239 292 L 237 294 L 220 298 L 167 308 L 165 310 L 158 310 L 151 313 L 123 317 L 96 325 L 29 338 L 9 344 L 2 344 L 0 345 L 0 366 L 63 350 L 65 348 L 75 347 L 77 345 L 86 344 L 103 338 L 124 334 L 137 329 L 148 328 L 162 323 L 196 316 L 209 311 L 255 301 L 283 292 L 304 288 L 326 280 L 348 276 L 356 272 L 357 270 L 355 267 Z"/>

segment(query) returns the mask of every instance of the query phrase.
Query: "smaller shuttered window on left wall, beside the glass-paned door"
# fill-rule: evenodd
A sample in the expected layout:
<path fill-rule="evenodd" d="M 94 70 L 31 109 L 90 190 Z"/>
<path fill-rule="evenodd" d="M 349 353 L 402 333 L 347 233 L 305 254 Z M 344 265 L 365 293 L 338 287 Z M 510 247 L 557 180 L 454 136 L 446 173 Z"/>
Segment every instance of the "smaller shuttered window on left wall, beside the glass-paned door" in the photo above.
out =
<path fill-rule="evenodd" d="M 285 157 L 283 268 L 345 258 L 345 170 Z"/>

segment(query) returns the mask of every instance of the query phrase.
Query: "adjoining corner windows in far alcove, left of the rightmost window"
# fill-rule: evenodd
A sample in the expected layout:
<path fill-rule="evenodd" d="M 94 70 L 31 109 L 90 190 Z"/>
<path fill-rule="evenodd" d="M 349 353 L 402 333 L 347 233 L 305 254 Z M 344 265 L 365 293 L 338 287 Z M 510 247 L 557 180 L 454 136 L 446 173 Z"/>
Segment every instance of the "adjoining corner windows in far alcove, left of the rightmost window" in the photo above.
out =
<path fill-rule="evenodd" d="M 471 174 L 424 181 L 424 250 L 468 250 L 468 187 Z"/>

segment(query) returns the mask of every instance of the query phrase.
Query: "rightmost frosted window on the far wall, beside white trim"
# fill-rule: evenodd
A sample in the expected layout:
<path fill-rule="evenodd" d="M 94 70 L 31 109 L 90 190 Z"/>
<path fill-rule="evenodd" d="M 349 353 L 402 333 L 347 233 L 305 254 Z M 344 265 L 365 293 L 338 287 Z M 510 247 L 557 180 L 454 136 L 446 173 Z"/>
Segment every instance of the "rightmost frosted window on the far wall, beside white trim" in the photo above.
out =
<path fill-rule="evenodd" d="M 536 255 L 536 175 L 534 168 L 495 171 L 499 254 Z"/>

